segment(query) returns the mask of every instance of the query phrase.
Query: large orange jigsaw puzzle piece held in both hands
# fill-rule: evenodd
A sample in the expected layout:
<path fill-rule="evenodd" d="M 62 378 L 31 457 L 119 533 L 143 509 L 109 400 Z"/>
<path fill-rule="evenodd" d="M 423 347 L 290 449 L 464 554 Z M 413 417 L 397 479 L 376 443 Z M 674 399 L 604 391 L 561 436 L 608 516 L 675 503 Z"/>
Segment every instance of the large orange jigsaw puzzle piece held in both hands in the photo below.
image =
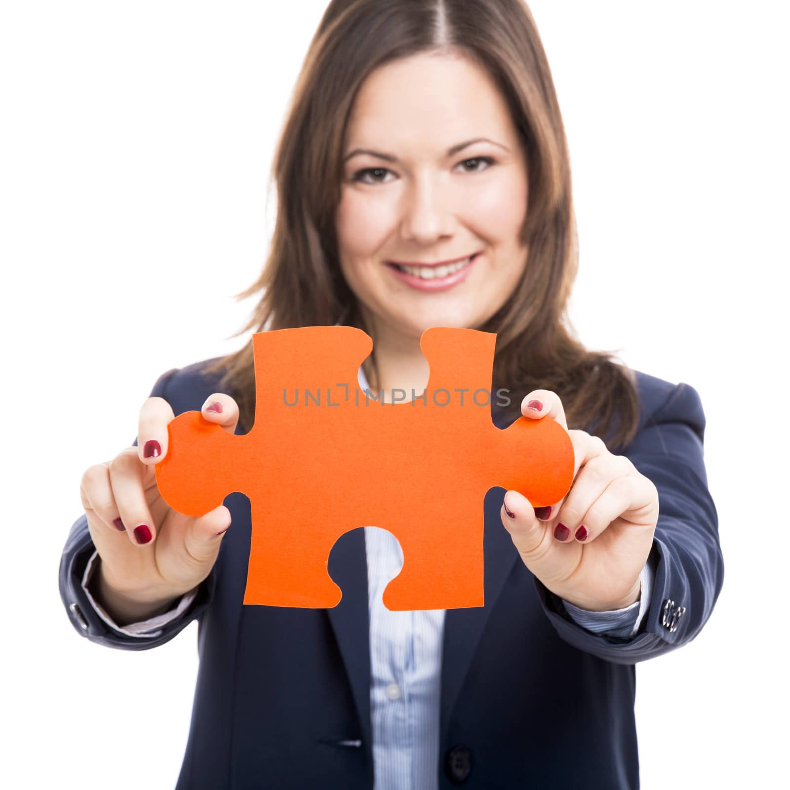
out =
<path fill-rule="evenodd" d="M 553 505 L 574 477 L 570 435 L 554 419 L 521 416 L 505 430 L 491 421 L 495 340 L 476 329 L 426 329 L 427 389 L 393 404 L 359 388 L 373 348 L 361 329 L 255 333 L 254 427 L 234 435 L 184 412 L 168 426 L 156 483 L 188 516 L 234 491 L 250 498 L 244 604 L 337 606 L 329 552 L 344 532 L 374 525 L 392 532 L 404 555 L 384 591 L 390 611 L 483 606 L 487 491 L 502 486 L 532 506 Z"/>

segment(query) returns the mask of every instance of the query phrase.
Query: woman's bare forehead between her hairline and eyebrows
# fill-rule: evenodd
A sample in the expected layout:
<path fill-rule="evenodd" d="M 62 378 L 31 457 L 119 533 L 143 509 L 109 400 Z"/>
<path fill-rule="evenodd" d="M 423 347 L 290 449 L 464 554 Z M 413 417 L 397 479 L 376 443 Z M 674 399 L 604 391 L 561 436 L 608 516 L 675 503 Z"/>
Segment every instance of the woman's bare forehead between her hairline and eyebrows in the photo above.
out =
<path fill-rule="evenodd" d="M 463 137 L 515 135 L 507 104 L 490 75 L 458 55 L 413 55 L 374 70 L 359 88 L 348 145 L 436 145 Z"/>

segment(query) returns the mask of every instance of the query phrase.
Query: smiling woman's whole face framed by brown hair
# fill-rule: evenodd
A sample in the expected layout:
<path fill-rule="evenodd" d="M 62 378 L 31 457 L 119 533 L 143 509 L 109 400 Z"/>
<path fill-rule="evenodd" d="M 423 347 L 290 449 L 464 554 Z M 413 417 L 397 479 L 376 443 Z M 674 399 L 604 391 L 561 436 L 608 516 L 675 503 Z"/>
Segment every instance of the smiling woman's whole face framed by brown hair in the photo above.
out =
<path fill-rule="evenodd" d="M 382 66 L 359 90 L 346 139 L 340 268 L 373 331 L 482 325 L 527 256 L 524 152 L 490 77 L 445 55 Z M 434 265 L 446 261 L 463 268 Z"/>

